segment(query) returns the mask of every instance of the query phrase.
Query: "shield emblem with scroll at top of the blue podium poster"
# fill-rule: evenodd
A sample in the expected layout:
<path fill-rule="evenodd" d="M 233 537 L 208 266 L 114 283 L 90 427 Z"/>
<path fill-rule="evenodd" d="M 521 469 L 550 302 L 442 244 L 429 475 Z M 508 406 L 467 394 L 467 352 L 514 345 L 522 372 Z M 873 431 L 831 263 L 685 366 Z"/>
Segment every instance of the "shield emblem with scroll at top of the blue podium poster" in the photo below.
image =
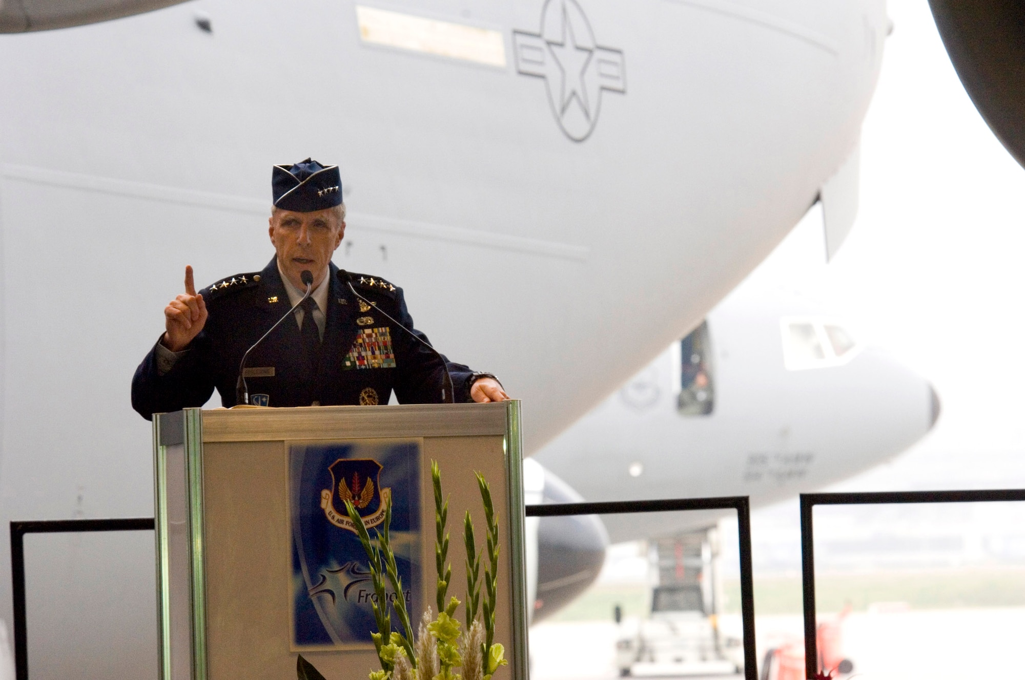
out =
<path fill-rule="evenodd" d="M 328 471 L 331 473 L 331 488 L 321 492 L 321 509 L 329 522 L 338 528 L 357 533 L 356 524 L 345 510 L 345 501 L 356 506 L 367 528 L 384 521 L 384 505 L 392 490 L 380 487 L 380 463 L 371 459 L 339 458 L 328 467 Z"/>

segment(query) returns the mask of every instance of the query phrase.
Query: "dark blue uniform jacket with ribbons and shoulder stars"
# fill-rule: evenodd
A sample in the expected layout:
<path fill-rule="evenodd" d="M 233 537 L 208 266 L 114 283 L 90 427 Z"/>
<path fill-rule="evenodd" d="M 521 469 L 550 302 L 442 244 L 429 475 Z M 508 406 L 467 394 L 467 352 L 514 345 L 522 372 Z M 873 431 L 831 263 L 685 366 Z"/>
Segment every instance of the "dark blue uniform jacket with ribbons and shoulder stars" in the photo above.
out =
<path fill-rule="evenodd" d="M 413 329 L 402 289 L 375 277 L 352 274 L 356 290 L 374 303 L 370 306 L 353 296 L 334 264 L 330 277 L 319 351 L 308 355 L 294 314 L 286 318 L 246 360 L 251 400 L 270 407 L 373 405 L 387 403 L 395 390 L 402 403 L 440 402 L 445 384 L 441 360 L 378 311 Z M 201 293 L 209 316 L 173 368 L 158 374 L 154 347 L 135 371 L 132 407 L 148 420 L 155 413 L 201 407 L 214 388 L 221 403 L 235 406 L 242 355 L 290 307 L 276 259 L 262 271 L 236 274 Z M 473 372 L 452 362 L 448 367 L 455 400 L 470 400 Z"/>

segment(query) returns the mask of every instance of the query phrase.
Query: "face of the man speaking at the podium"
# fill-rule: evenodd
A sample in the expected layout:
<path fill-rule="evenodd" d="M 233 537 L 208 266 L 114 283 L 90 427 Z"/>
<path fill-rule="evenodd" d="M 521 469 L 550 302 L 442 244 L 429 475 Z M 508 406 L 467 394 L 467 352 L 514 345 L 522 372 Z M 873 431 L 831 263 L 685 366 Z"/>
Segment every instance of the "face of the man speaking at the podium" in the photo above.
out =
<path fill-rule="evenodd" d="M 305 290 L 300 274 L 310 269 L 314 288 L 328 272 L 331 255 L 345 235 L 345 222 L 332 209 L 299 213 L 275 210 L 271 215 L 271 243 L 278 252 L 278 265 L 299 290 Z"/>

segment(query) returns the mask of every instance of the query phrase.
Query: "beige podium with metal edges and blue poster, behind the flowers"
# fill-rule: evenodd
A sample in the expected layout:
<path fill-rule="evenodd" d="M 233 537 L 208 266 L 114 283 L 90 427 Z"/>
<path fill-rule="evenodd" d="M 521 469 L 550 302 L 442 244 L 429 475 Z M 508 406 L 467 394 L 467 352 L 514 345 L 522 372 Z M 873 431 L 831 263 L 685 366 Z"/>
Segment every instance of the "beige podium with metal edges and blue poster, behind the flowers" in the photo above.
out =
<path fill-rule="evenodd" d="M 509 662 L 494 679 L 526 680 L 519 401 L 186 409 L 156 415 L 153 432 L 162 680 L 291 680 L 299 653 L 328 680 L 378 670 L 367 559 L 354 552 L 339 499 L 365 508 L 376 528 L 392 499 L 415 630 L 424 607 L 437 614 L 432 461 L 449 497 L 448 595 L 464 602 L 465 511 L 478 549 L 485 545 L 474 471 L 490 484 L 500 539 L 495 641 Z M 463 615 L 460 607 L 455 618 Z M 402 631 L 394 611 L 392 626 Z"/>

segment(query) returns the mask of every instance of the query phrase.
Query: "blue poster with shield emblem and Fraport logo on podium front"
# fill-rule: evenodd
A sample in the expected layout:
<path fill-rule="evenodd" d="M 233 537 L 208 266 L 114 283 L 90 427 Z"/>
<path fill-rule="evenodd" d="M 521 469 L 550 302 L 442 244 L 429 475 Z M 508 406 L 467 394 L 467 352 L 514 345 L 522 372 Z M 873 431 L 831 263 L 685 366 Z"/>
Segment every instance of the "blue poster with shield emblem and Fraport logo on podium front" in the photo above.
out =
<path fill-rule="evenodd" d="M 357 508 L 370 538 L 392 501 L 391 545 L 401 594 L 421 605 L 419 439 L 289 442 L 291 645 L 293 650 L 373 648 L 376 631 L 366 552 L 345 511 Z"/>

